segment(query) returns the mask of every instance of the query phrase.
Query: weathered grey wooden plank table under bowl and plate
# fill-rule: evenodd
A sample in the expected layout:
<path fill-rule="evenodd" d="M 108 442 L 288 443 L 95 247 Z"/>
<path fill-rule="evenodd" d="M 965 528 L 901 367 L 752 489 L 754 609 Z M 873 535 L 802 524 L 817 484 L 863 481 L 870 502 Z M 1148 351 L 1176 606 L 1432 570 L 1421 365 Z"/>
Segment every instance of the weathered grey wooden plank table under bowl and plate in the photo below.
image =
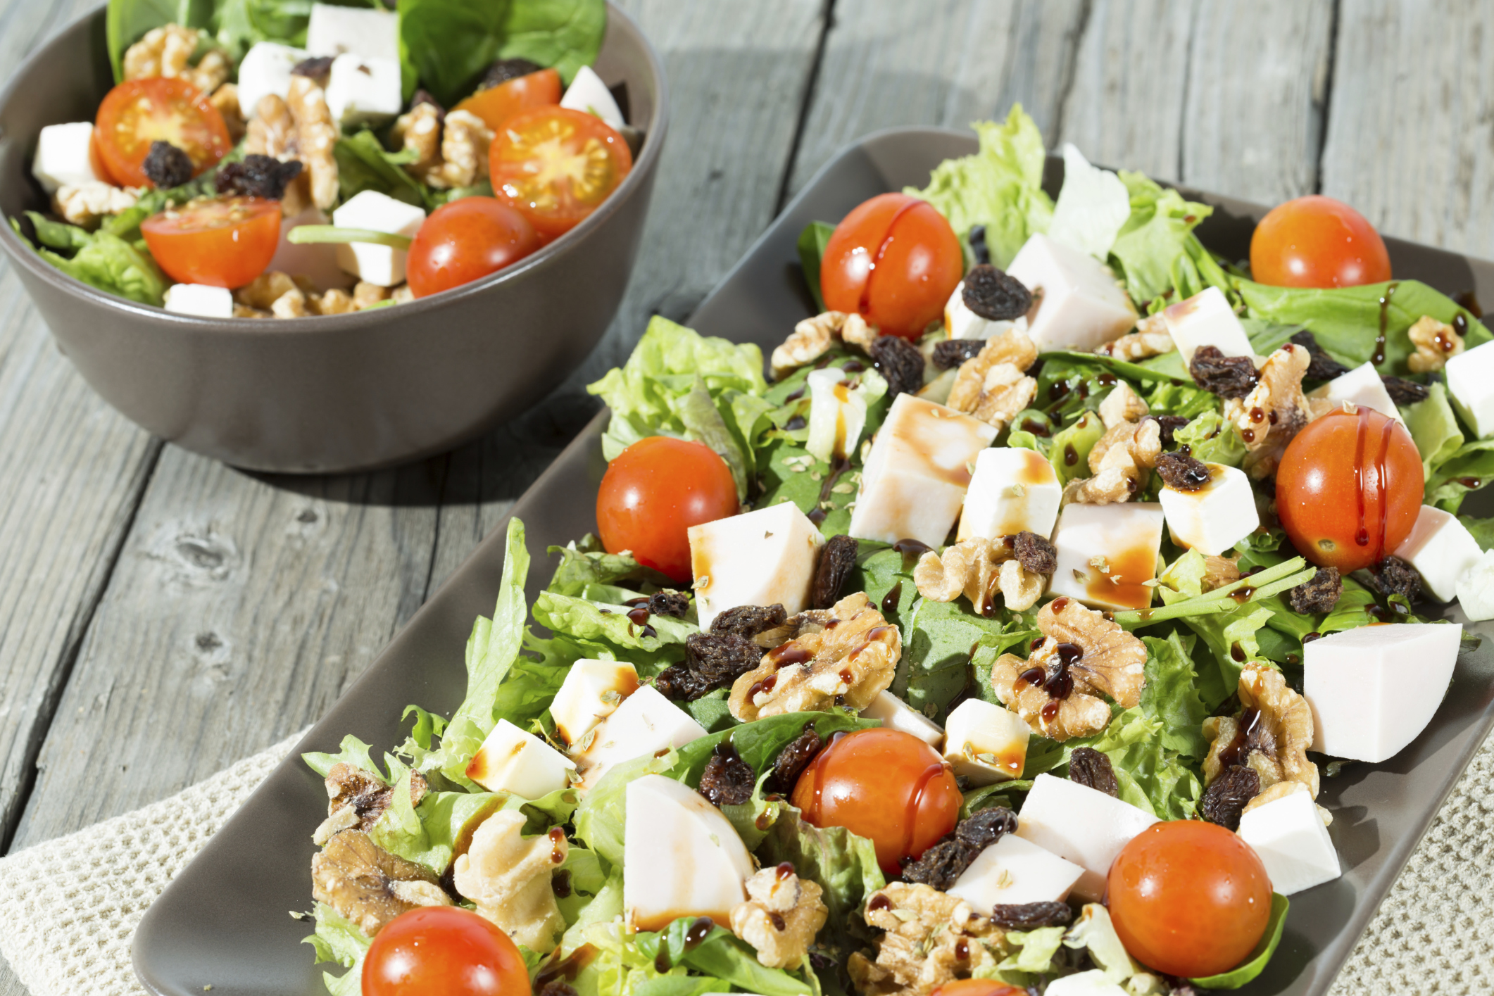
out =
<path fill-rule="evenodd" d="M 94 0 L 0 0 L 0 78 Z M 672 127 L 604 342 L 550 399 L 378 473 L 244 473 L 106 406 L 0 269 L 0 853 L 317 720 L 841 145 L 1019 100 L 1050 146 L 1494 257 L 1494 1 L 623 0 Z M 0 996 L 24 993 L 0 963 Z"/>

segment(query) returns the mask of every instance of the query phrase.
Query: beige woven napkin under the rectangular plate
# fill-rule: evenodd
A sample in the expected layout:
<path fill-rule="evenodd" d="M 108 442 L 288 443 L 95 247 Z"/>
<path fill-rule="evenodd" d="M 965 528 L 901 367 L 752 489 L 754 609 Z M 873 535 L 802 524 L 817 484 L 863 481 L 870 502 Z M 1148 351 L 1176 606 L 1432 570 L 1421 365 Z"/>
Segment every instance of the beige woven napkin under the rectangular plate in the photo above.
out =
<path fill-rule="evenodd" d="M 145 993 L 130 968 L 134 926 L 300 736 L 170 799 L 0 859 L 0 954 L 31 996 Z M 1331 990 L 1409 993 L 1494 993 L 1494 739 Z"/>

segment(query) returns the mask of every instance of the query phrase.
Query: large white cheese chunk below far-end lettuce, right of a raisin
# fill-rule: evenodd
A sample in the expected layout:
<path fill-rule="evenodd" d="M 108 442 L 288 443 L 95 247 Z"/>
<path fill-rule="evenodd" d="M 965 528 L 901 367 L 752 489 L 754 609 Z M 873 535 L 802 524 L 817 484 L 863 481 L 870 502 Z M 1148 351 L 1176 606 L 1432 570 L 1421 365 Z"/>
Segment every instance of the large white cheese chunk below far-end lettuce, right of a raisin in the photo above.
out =
<path fill-rule="evenodd" d="M 1026 240 L 1007 267 L 1037 300 L 1028 334 L 1044 349 L 1092 351 L 1135 326 L 1135 308 L 1104 263 L 1046 234 Z"/>

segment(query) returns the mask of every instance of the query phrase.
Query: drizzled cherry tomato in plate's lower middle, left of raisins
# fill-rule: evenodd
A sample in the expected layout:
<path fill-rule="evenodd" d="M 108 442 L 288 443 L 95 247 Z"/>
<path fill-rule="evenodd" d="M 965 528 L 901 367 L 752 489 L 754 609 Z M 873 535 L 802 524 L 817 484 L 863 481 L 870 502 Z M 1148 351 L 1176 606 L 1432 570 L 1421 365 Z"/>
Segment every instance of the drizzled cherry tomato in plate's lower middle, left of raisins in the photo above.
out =
<path fill-rule="evenodd" d="M 846 827 L 877 845 L 877 863 L 899 874 L 955 829 L 964 797 L 938 753 L 899 730 L 834 738 L 804 769 L 790 799 L 817 827 Z"/>

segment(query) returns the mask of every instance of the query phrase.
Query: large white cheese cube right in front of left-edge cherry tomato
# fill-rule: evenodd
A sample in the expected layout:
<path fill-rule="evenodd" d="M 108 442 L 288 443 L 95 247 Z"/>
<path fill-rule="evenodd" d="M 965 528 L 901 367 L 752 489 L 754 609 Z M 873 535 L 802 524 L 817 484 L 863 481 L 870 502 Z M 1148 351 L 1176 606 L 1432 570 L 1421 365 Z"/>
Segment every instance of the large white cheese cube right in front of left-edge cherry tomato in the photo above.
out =
<path fill-rule="evenodd" d="M 810 608 L 814 561 L 825 536 L 793 502 L 689 529 L 690 570 L 701 630 L 738 605 Z"/>

